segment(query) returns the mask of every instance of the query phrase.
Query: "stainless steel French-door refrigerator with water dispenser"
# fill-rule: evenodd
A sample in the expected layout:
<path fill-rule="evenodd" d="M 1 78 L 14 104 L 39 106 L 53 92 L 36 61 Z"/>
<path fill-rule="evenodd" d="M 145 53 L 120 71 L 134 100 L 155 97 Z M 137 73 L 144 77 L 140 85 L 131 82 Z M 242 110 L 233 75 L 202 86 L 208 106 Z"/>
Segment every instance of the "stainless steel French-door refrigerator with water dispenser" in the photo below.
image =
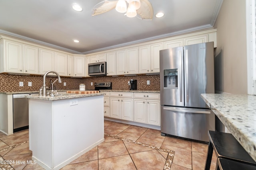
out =
<path fill-rule="evenodd" d="M 213 42 L 160 51 L 161 135 L 209 141 L 215 115 L 200 97 L 214 93 Z"/>

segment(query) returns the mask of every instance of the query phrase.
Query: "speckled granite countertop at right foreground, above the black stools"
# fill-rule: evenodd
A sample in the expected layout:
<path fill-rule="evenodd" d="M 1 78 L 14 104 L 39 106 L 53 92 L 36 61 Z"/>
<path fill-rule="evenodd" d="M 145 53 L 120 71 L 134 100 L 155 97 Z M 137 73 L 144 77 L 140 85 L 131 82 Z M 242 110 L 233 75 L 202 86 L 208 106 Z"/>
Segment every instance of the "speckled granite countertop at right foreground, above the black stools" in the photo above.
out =
<path fill-rule="evenodd" d="M 256 96 L 201 94 L 201 97 L 256 161 Z"/>

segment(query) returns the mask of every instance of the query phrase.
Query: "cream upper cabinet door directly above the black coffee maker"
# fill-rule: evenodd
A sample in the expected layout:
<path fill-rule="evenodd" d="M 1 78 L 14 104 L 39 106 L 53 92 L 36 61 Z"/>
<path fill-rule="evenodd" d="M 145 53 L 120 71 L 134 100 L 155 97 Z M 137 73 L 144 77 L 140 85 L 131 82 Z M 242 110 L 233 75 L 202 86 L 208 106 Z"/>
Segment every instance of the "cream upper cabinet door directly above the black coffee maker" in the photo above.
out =
<path fill-rule="evenodd" d="M 138 48 L 126 49 L 126 73 L 138 74 Z"/>

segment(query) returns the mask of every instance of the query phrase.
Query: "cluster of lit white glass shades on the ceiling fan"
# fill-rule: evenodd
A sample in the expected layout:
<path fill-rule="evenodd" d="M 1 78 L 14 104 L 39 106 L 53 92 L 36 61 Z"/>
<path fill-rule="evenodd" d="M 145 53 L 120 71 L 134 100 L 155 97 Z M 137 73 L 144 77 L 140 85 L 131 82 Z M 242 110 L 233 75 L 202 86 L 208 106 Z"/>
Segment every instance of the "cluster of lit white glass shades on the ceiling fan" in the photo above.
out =
<path fill-rule="evenodd" d="M 126 2 L 128 2 L 128 8 Z M 116 3 L 116 11 L 120 13 L 126 12 L 125 16 L 133 18 L 137 16 L 137 11 L 140 8 L 140 0 L 118 0 Z"/>

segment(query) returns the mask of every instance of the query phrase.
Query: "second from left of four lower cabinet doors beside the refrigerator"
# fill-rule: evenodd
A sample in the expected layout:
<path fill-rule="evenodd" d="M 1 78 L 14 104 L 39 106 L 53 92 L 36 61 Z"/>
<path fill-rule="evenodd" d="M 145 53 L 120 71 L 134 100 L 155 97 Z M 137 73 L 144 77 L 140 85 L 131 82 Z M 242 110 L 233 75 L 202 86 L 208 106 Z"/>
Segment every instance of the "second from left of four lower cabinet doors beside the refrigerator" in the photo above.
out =
<path fill-rule="evenodd" d="M 133 121 L 133 99 L 121 98 L 121 119 Z"/>

